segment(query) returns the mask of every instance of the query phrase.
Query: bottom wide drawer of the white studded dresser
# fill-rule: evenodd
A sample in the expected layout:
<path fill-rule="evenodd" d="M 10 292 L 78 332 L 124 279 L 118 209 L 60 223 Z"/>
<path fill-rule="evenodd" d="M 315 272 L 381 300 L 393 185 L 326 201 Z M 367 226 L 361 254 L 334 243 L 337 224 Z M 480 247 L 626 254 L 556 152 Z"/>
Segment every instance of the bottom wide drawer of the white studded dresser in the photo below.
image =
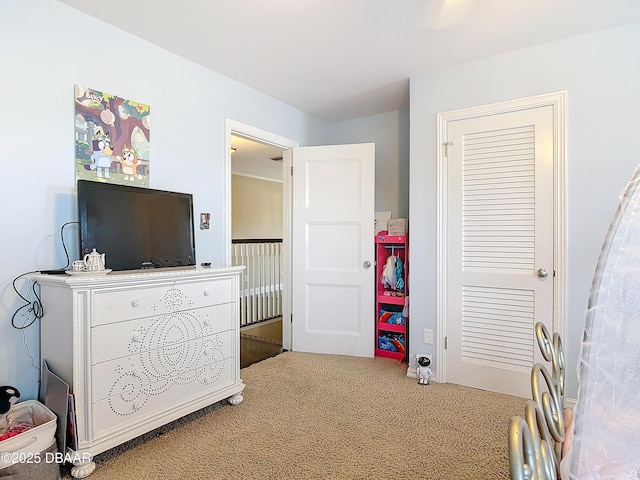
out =
<path fill-rule="evenodd" d="M 212 403 L 221 400 L 216 392 L 234 384 L 236 362 L 233 358 L 222 360 L 94 403 L 91 407 L 93 439 L 133 430 L 145 420 L 163 416 L 175 407 L 206 395 L 212 396 Z"/>

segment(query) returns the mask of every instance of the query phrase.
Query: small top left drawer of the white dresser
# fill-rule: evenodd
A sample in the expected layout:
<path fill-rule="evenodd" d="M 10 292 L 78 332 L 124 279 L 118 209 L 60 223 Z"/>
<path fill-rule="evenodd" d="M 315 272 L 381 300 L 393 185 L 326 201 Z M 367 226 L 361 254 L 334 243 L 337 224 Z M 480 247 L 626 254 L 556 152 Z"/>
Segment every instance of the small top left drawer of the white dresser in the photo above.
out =
<path fill-rule="evenodd" d="M 91 325 L 104 325 L 132 318 L 171 313 L 173 282 L 150 287 L 96 290 L 92 293 Z"/>

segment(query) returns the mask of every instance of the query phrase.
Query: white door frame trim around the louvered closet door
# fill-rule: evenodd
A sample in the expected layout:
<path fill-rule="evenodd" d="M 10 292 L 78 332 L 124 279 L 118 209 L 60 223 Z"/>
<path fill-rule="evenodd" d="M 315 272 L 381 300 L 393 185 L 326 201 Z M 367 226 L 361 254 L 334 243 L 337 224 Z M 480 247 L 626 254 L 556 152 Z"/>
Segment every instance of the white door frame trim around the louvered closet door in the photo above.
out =
<path fill-rule="evenodd" d="M 566 119 L 565 119 L 566 92 L 555 92 L 544 95 L 536 95 L 512 101 L 482 105 L 479 107 L 464 108 L 450 112 L 438 113 L 437 123 L 437 285 L 436 293 L 436 377 L 439 382 L 447 381 L 447 364 L 444 337 L 447 332 L 447 171 L 446 148 L 444 142 L 447 139 L 448 122 L 465 120 L 469 118 L 496 115 L 500 113 L 526 110 L 530 108 L 552 106 L 554 116 L 554 305 L 553 326 L 554 331 L 566 337 Z"/>

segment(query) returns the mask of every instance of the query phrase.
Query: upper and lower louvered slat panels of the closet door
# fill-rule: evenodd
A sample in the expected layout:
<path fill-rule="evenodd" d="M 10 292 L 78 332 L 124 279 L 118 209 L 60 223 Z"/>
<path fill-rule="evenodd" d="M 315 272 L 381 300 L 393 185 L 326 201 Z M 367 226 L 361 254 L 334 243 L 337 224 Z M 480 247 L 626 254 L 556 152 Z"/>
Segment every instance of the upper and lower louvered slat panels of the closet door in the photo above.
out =
<path fill-rule="evenodd" d="M 462 148 L 463 270 L 532 271 L 533 125 L 471 133 Z M 462 299 L 463 358 L 531 368 L 533 292 L 463 285 Z"/>

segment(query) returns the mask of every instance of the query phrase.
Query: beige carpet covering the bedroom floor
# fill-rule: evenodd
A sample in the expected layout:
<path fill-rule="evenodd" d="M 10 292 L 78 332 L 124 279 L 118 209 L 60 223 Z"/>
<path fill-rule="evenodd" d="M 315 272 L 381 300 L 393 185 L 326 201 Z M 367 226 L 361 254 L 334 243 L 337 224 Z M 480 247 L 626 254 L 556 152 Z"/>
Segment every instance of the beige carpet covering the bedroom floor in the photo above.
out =
<path fill-rule="evenodd" d="M 239 406 L 98 455 L 89 478 L 509 479 L 507 428 L 524 399 L 421 386 L 406 371 L 382 358 L 285 352 L 242 370 Z"/>

